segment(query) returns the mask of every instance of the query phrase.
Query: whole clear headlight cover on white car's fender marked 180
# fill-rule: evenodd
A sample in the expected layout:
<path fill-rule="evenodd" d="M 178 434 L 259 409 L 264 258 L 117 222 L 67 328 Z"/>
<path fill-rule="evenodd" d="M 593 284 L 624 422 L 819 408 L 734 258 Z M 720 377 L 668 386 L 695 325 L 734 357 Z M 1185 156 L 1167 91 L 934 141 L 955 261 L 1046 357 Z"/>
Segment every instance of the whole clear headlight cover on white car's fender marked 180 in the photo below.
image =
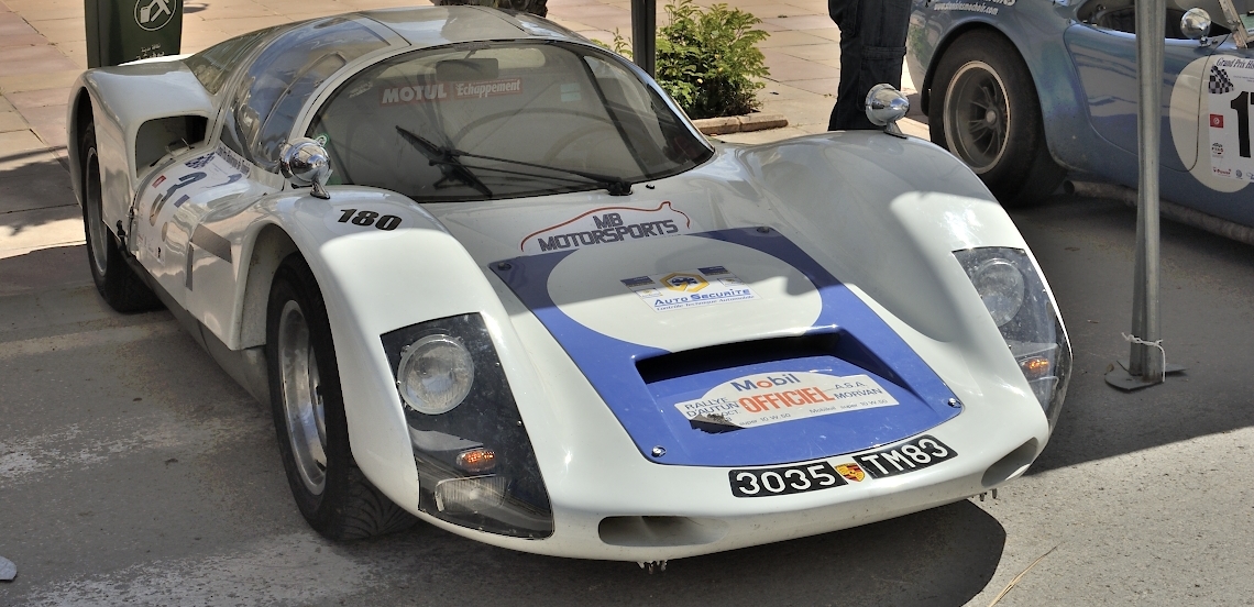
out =
<path fill-rule="evenodd" d="M 540 539 L 553 509 L 483 317 L 380 336 L 405 404 L 423 512 L 472 529 Z"/>

